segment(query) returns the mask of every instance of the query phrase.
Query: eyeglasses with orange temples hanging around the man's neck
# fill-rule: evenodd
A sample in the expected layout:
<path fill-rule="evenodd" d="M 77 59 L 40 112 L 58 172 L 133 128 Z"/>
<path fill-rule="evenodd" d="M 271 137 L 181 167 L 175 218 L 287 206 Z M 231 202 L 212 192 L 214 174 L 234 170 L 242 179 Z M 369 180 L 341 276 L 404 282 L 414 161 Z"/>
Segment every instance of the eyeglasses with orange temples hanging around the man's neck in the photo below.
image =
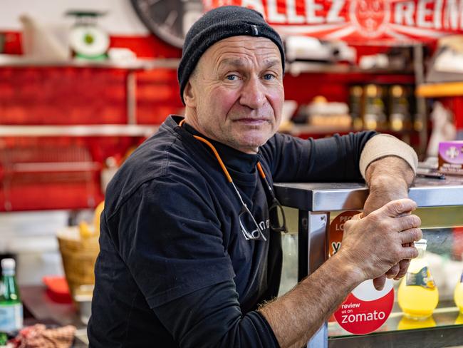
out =
<path fill-rule="evenodd" d="M 180 126 L 182 126 L 182 123 L 180 123 Z M 246 238 L 246 240 L 267 240 L 264 235 L 264 230 L 266 227 L 265 222 L 261 222 L 264 224 L 264 227 L 262 227 L 261 225 L 259 225 L 259 223 L 257 223 L 256 219 L 254 219 L 254 216 L 252 215 L 251 210 L 249 210 L 246 203 L 244 203 L 243 198 L 241 198 L 238 188 L 236 188 L 236 185 L 231 179 L 231 176 L 227 168 L 225 167 L 222 161 L 222 158 L 220 158 L 220 155 L 217 152 L 214 145 L 212 145 L 212 143 L 210 143 L 208 140 L 198 135 L 193 135 L 193 136 L 194 138 L 196 138 L 199 141 L 202 141 L 203 143 L 208 145 L 209 148 L 211 148 L 212 152 L 217 158 L 217 161 L 219 161 L 219 165 L 224 171 L 224 174 L 227 177 L 227 180 L 229 181 L 229 183 L 231 183 L 231 186 L 234 188 L 234 191 L 236 192 L 236 195 L 239 198 L 239 202 L 241 203 L 241 210 L 239 211 L 239 226 L 241 227 L 241 232 L 243 233 L 244 238 Z M 279 200 L 276 199 L 274 190 L 271 188 L 271 185 L 269 184 L 269 181 L 266 178 L 266 175 L 264 173 L 264 170 L 262 169 L 261 163 L 258 162 L 256 167 L 257 167 L 257 170 L 259 171 L 259 175 L 264 180 L 264 183 L 265 183 L 264 187 L 267 188 L 267 190 L 269 191 L 271 195 L 271 205 L 269 208 L 270 227 L 272 230 L 276 232 L 286 233 L 287 232 L 286 218 L 283 212 L 283 207 L 279 203 Z M 251 229 L 249 229 L 248 226 L 251 226 Z"/>

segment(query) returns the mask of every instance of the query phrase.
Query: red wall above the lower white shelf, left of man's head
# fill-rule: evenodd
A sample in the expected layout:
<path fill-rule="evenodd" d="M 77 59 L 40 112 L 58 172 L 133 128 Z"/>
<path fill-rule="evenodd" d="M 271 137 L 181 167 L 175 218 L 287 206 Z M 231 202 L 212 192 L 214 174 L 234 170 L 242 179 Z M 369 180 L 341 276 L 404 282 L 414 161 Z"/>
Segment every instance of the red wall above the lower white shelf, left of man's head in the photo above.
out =
<path fill-rule="evenodd" d="M 112 37 L 140 58 L 178 58 L 157 39 Z M 21 54 L 21 35 L 7 34 L 5 53 Z M 102 68 L 0 68 L 0 123 L 100 124 L 126 122 L 128 71 Z M 174 69 L 137 72 L 137 121 L 162 123 L 182 108 Z"/>

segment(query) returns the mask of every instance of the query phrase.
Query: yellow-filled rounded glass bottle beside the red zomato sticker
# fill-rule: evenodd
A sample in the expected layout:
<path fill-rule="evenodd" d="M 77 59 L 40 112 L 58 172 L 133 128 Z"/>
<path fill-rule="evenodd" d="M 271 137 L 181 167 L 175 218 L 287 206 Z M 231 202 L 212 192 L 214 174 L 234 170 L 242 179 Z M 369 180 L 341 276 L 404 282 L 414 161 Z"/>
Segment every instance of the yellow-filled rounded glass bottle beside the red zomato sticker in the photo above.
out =
<path fill-rule="evenodd" d="M 400 283 L 397 302 L 405 316 L 412 319 L 430 317 L 439 302 L 439 291 L 427 265 L 426 240 L 415 242 L 418 257 L 410 262 L 407 275 Z"/>

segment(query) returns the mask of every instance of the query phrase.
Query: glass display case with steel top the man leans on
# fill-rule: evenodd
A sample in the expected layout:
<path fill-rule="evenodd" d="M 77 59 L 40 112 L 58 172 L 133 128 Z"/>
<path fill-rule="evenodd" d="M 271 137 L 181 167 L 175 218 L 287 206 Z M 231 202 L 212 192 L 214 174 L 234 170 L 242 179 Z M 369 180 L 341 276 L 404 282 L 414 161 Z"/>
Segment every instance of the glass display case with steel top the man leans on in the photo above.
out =
<path fill-rule="evenodd" d="M 363 183 L 278 183 L 275 191 L 285 206 L 289 230 L 282 240 L 279 295 L 283 295 L 327 260 L 330 222 L 346 210 L 361 210 L 368 188 Z M 353 335 L 330 319 L 308 342 L 308 347 L 463 344 L 463 307 L 460 312 L 454 298 L 454 290 L 463 276 L 463 178 L 417 178 L 409 196 L 417 203 L 415 214 L 422 220 L 423 238 L 427 240 L 425 261 L 439 293 L 437 308 L 430 317 L 422 319 L 411 319 L 404 314 L 397 303 L 397 290 L 402 281 L 399 280 L 394 284 L 392 312 L 375 332 Z"/>

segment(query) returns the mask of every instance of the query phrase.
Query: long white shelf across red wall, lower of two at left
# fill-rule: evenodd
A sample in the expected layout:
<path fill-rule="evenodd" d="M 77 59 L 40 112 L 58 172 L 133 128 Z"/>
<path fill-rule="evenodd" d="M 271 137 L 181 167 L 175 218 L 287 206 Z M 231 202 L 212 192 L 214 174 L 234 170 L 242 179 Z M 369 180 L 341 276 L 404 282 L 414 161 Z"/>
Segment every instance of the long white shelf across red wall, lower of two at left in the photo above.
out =
<path fill-rule="evenodd" d="M 8 136 L 134 136 L 148 137 L 155 125 L 88 125 L 88 126 L 0 126 L 0 137 Z"/>

